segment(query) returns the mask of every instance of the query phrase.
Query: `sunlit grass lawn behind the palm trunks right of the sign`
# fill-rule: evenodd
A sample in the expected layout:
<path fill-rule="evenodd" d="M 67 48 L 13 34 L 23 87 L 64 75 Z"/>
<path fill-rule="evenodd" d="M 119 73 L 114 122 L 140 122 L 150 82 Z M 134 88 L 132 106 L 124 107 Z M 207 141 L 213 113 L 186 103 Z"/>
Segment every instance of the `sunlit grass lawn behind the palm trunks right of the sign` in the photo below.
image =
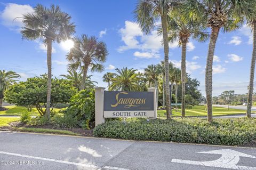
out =
<path fill-rule="evenodd" d="M 241 109 L 229 109 L 222 107 L 213 107 L 213 116 L 223 116 L 223 115 L 234 115 L 234 114 L 245 114 L 246 110 Z M 165 110 L 157 110 L 158 117 L 166 117 Z M 181 116 L 181 109 L 172 110 L 172 116 Z M 207 111 L 205 111 L 205 106 L 194 106 L 192 109 L 186 109 L 186 116 L 207 116 Z"/>

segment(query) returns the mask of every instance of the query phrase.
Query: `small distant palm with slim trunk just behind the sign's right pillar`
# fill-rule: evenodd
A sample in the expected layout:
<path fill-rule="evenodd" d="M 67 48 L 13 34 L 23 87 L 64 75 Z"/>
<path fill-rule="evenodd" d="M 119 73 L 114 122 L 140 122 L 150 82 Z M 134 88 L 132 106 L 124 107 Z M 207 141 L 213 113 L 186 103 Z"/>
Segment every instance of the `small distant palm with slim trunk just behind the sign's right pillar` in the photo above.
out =
<path fill-rule="evenodd" d="M 157 65 L 151 64 L 145 70 L 145 76 L 148 79 L 149 87 L 151 87 L 151 83 L 154 83 L 156 87 L 156 103 L 158 108 L 158 75 L 160 74 L 160 70 L 158 69 Z"/>

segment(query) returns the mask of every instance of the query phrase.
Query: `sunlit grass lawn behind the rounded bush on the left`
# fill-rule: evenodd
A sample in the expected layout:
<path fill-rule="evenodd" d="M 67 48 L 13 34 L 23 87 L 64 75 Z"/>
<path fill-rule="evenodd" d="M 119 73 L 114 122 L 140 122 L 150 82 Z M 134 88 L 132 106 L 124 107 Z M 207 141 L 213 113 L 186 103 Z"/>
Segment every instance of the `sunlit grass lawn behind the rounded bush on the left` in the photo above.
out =
<path fill-rule="evenodd" d="M 26 111 L 27 109 L 22 106 L 5 106 L 8 110 L 0 111 L 0 115 L 21 115 L 22 111 Z M 60 109 L 54 109 L 55 111 L 59 111 Z M 39 115 L 36 108 L 33 108 L 31 111 L 32 115 Z"/>

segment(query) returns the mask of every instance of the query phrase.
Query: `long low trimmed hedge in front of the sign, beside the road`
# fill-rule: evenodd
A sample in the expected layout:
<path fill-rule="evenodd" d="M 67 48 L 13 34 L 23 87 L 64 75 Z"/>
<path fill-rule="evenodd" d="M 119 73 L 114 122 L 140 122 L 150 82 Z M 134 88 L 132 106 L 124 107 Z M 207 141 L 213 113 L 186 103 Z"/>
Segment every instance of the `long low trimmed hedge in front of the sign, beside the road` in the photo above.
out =
<path fill-rule="evenodd" d="M 201 118 L 126 119 L 109 121 L 94 128 L 96 137 L 126 140 L 172 141 L 219 145 L 242 145 L 256 140 L 256 118 L 214 119 L 210 124 Z"/>

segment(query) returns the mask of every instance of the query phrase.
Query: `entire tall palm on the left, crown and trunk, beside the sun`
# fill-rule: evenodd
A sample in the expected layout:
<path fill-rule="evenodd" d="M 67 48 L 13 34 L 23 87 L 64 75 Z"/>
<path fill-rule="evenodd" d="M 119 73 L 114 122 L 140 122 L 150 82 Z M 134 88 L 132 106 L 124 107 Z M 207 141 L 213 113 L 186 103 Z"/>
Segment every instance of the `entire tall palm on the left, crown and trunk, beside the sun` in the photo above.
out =
<path fill-rule="evenodd" d="M 46 117 L 50 119 L 51 105 L 51 80 L 52 80 L 52 42 L 60 43 L 75 33 L 75 25 L 70 22 L 71 17 L 68 13 L 62 12 L 59 6 L 51 5 L 47 9 L 38 4 L 34 7 L 33 13 L 23 15 L 21 34 L 22 38 L 35 41 L 42 39 L 47 46 L 47 99 Z"/>

